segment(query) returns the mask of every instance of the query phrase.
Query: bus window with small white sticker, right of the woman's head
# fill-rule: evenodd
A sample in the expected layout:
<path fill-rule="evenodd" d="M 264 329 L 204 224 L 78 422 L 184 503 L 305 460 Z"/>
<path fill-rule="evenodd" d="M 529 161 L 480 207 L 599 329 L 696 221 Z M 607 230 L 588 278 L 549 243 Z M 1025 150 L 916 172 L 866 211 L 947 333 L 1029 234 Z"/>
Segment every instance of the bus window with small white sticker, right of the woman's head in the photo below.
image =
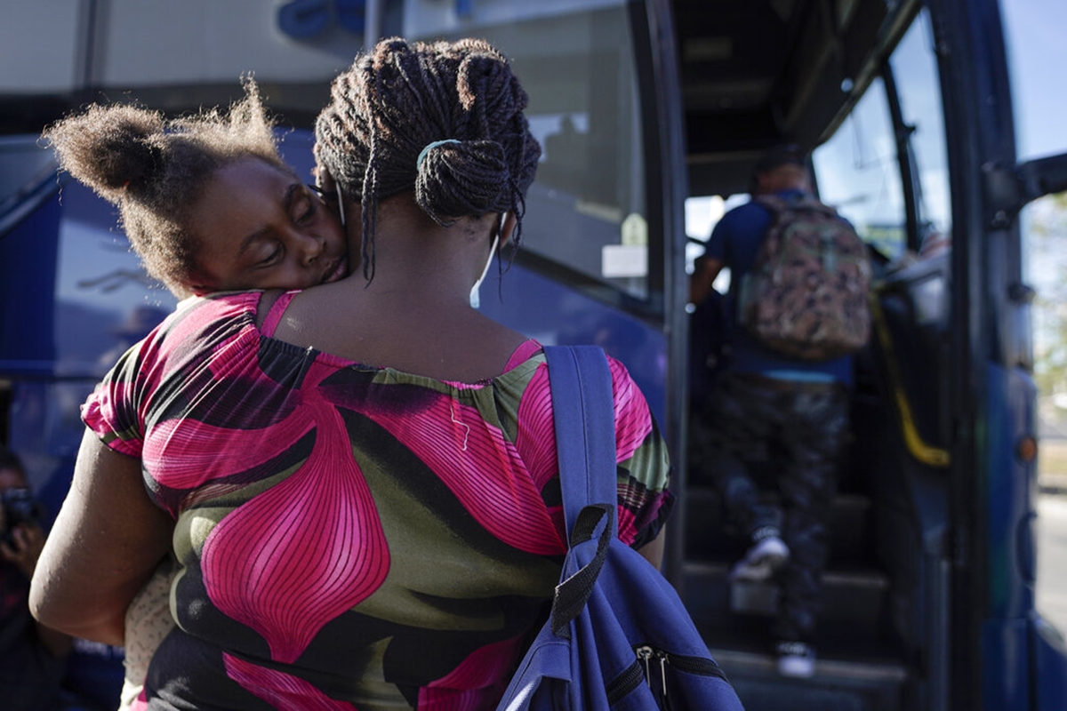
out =
<path fill-rule="evenodd" d="M 530 4 L 528 17 L 489 17 L 476 31 L 445 36 L 493 43 L 529 94 L 526 115 L 542 155 L 526 197 L 523 252 L 643 301 L 649 242 L 660 238 L 649 235 L 636 50 L 626 5 L 598 4 L 568 13 Z M 411 16 L 416 32 L 420 18 Z"/>

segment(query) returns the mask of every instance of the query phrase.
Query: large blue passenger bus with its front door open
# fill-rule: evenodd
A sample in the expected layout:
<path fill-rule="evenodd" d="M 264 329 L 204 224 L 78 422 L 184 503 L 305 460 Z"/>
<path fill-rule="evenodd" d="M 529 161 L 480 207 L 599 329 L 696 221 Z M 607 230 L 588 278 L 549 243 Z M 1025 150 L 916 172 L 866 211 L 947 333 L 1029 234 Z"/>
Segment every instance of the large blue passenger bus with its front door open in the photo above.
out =
<path fill-rule="evenodd" d="M 603 345 L 646 392 L 679 496 L 664 572 L 746 708 L 1067 708 L 1067 645 L 1035 603 L 1035 289 L 1020 229 L 1026 204 L 1067 190 L 1067 155 L 1017 161 L 997 0 L 23 4 L 0 10 L 18 58 L 0 68 L 0 440 L 52 512 L 78 405 L 175 301 L 110 206 L 57 175 L 41 129 L 86 101 L 226 103 L 251 70 L 287 158 L 309 171 L 312 122 L 356 50 L 478 35 L 512 58 L 544 148 L 523 247 L 481 308 L 545 343 Z M 812 150 L 822 199 L 879 277 L 819 660 L 802 680 L 766 653 L 773 591 L 728 582 L 737 550 L 687 451 L 720 337 L 686 303 L 688 273 L 783 142 Z M 83 708 L 114 708 L 121 659 L 77 646 L 67 685 Z"/>

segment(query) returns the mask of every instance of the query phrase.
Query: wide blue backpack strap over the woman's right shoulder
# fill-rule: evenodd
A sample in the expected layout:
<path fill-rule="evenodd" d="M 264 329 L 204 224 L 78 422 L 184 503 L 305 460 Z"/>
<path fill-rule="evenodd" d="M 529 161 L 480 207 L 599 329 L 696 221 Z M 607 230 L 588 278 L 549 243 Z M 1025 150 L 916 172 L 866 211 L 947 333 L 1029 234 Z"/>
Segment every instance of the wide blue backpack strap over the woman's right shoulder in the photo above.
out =
<path fill-rule="evenodd" d="M 596 345 L 546 345 L 568 537 L 589 504 L 618 506 L 611 371 Z M 616 535 L 611 516 L 611 535 Z M 573 545 L 574 542 L 571 542 Z"/>

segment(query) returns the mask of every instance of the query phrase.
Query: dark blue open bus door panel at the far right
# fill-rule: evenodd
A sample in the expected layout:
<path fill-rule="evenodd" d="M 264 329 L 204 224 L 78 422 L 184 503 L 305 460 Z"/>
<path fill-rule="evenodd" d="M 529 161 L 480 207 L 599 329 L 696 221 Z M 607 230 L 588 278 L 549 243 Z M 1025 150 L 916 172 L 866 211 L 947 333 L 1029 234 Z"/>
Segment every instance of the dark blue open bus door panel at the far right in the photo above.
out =
<path fill-rule="evenodd" d="M 929 9 L 951 127 L 952 699 L 1064 708 L 1063 641 L 1034 608 L 1034 290 L 1023 280 L 1018 212 L 1067 188 L 1067 156 L 1017 165 L 996 4 L 935 0 Z"/>

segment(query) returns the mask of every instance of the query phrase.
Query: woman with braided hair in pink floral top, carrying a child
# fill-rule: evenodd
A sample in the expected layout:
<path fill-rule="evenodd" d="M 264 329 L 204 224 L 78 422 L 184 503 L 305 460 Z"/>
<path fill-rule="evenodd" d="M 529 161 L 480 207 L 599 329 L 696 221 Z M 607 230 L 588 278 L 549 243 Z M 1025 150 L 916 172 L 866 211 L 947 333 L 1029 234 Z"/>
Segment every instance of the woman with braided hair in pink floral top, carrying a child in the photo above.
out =
<path fill-rule="evenodd" d="M 525 106 L 481 41 L 357 56 L 315 150 L 361 269 L 195 300 L 90 399 L 33 605 L 118 639 L 173 539 L 147 708 L 495 707 L 566 552 L 540 344 L 471 306 L 522 233 Z M 619 536 L 658 560 L 666 447 L 610 367 Z"/>

